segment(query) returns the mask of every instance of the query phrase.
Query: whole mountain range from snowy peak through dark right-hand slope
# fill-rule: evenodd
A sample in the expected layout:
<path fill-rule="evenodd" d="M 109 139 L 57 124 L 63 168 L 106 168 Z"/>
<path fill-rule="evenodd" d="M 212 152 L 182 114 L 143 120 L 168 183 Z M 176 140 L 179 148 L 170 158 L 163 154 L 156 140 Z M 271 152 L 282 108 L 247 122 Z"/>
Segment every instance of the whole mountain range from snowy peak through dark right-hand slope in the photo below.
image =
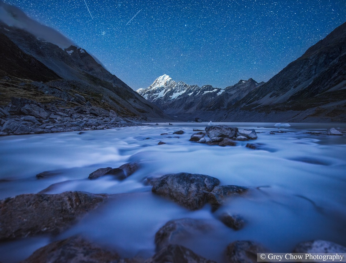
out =
<path fill-rule="evenodd" d="M 182 119 L 231 122 L 346 121 L 346 23 L 268 82 L 199 88 L 163 75 L 137 92 Z"/>

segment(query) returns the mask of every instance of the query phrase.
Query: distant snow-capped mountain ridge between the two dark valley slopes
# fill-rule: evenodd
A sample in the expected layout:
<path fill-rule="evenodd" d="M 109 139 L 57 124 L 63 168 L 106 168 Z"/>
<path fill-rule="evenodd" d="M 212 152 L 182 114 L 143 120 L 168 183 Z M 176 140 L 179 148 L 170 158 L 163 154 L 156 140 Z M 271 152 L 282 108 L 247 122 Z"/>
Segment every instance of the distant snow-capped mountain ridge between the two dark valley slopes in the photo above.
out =
<path fill-rule="evenodd" d="M 211 85 L 199 87 L 188 85 L 183 81 L 175 82 L 170 76 L 164 74 L 148 88 L 138 89 L 137 92 L 164 112 L 180 115 L 194 114 L 205 108 L 225 108 L 233 105 L 249 91 L 262 84 L 262 82 L 257 83 L 249 79 L 240 80 L 236 85 L 225 89 L 214 88 Z"/>

